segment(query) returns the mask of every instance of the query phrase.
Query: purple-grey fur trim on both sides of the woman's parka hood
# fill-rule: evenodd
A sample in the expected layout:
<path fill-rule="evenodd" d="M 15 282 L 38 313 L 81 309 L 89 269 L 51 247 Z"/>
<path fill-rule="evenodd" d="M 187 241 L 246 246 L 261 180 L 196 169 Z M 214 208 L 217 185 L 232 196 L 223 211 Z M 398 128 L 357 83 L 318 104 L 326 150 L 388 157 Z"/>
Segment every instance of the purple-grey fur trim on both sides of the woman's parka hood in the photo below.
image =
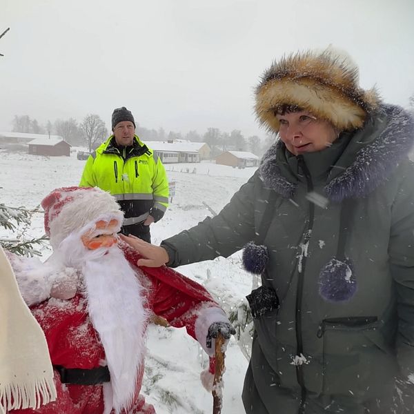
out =
<path fill-rule="evenodd" d="M 365 197 L 384 183 L 413 148 L 413 117 L 399 106 L 382 105 L 378 113 L 381 112 L 389 119 L 388 125 L 372 144 L 356 153 L 351 166 L 326 185 L 325 193 L 331 201 Z M 259 173 L 267 187 L 282 197 L 291 198 L 296 184 L 282 175 L 277 160 L 277 151 L 283 148 L 281 141 L 269 148 L 259 166 Z"/>

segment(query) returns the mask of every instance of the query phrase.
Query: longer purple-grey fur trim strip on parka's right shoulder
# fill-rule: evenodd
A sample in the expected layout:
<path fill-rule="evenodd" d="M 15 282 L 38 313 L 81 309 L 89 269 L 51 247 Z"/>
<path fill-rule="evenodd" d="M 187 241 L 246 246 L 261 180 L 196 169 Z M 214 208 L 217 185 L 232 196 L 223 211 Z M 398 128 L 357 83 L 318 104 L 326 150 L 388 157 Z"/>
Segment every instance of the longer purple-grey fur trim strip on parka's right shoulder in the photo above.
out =
<path fill-rule="evenodd" d="M 355 162 L 342 175 L 325 187 L 331 201 L 368 195 L 392 174 L 413 147 L 413 117 L 398 106 L 383 105 L 380 110 L 388 115 L 388 125 L 373 144 L 359 150 Z"/>

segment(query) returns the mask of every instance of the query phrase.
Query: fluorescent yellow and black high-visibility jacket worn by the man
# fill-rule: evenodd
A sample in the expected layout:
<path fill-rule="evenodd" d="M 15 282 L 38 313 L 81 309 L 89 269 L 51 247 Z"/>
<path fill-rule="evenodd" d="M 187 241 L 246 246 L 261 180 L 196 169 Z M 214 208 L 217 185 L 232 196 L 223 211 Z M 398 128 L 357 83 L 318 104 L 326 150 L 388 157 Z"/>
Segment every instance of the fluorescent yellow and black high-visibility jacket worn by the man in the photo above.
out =
<path fill-rule="evenodd" d="M 149 214 L 158 221 L 168 207 L 168 179 L 161 160 L 137 135 L 133 148 L 124 148 L 123 154 L 114 141 L 111 135 L 90 155 L 79 186 L 97 186 L 112 194 L 125 213 L 124 226 L 141 223 Z"/>

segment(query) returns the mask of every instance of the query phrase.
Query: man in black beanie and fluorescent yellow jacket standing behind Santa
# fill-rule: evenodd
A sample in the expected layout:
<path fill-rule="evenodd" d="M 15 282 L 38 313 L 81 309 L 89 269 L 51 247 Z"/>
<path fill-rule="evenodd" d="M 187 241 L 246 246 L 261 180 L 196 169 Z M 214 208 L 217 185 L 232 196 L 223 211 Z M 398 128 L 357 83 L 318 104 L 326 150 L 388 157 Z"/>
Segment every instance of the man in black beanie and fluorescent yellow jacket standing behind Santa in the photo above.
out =
<path fill-rule="evenodd" d="M 168 207 L 168 179 L 161 159 L 135 135 L 124 106 L 112 113 L 112 135 L 86 161 L 79 186 L 112 194 L 125 213 L 121 233 L 150 242 L 150 224 Z"/>

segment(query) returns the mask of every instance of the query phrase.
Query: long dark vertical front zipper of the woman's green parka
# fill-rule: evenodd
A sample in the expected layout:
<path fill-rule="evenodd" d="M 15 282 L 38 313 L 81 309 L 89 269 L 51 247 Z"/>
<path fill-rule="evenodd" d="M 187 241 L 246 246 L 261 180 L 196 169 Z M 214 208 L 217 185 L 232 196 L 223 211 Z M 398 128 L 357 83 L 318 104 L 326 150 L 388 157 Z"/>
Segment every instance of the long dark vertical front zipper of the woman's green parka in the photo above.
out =
<path fill-rule="evenodd" d="M 313 182 L 311 177 L 311 172 L 309 172 L 308 167 L 305 164 L 303 155 L 297 156 L 297 168 L 298 174 L 300 173 L 299 170 L 302 172 L 306 179 L 306 186 L 308 193 L 313 191 Z M 315 204 L 309 201 L 309 219 L 308 225 L 306 226 L 306 231 L 304 233 L 304 246 L 309 243 L 311 239 L 311 233 L 313 230 L 313 221 L 315 219 Z M 303 346 L 303 338 L 302 338 L 302 297 L 303 297 L 303 290 L 304 290 L 304 274 L 306 268 L 306 257 L 307 255 L 302 253 L 302 264 L 301 268 L 299 268 L 299 277 L 297 280 L 297 289 L 296 289 L 296 324 L 295 324 L 295 333 L 296 333 L 296 355 L 302 355 L 304 351 Z M 299 263 L 298 263 L 299 266 Z M 296 376 L 297 382 L 301 387 L 301 402 L 299 406 L 299 413 L 303 414 L 305 409 L 305 402 L 306 402 L 306 388 L 304 384 L 304 372 L 302 365 L 296 366 Z"/>

